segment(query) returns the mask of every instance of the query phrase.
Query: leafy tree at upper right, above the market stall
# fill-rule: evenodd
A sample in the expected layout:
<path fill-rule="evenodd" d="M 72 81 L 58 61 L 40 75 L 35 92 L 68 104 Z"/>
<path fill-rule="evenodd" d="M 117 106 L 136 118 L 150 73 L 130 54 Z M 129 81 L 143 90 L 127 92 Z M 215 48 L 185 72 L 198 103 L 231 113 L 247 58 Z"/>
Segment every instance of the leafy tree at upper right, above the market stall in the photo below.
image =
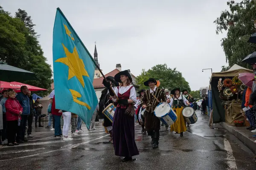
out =
<path fill-rule="evenodd" d="M 230 67 L 238 64 L 251 69 L 241 60 L 256 51 L 256 45 L 247 42 L 251 34 L 256 32 L 256 0 L 243 0 L 240 3 L 230 0 L 227 5 L 230 10 L 222 11 L 214 21 L 217 25 L 216 34 L 227 31 L 227 37 L 221 40 L 226 62 Z"/>

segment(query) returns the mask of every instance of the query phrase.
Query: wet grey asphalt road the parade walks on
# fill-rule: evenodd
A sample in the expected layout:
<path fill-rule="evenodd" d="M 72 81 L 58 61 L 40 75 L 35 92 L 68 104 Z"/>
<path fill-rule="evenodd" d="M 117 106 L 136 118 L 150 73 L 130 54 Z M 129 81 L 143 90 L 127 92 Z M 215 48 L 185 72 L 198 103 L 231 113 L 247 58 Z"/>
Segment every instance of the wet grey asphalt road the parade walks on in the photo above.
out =
<path fill-rule="evenodd" d="M 161 126 L 159 148 L 135 126 L 140 155 L 132 162 L 114 156 L 109 135 L 101 124 L 80 133 L 73 141 L 56 139 L 44 127 L 35 137 L 16 147 L 0 148 L 1 170 L 256 170 L 255 154 L 220 125 L 208 126 L 208 116 L 198 112 L 198 122 L 183 137 Z M 83 124 L 84 125 L 84 124 Z M 85 129 L 86 127 L 84 127 Z"/>

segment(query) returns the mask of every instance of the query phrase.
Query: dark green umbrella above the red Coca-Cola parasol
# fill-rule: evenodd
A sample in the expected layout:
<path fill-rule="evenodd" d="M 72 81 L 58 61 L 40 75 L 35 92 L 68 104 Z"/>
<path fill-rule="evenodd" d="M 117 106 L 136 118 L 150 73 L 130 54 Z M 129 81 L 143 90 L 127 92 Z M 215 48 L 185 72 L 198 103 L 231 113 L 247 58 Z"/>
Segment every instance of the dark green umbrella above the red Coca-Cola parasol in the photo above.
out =
<path fill-rule="evenodd" d="M 36 80 L 35 73 L 8 65 L 0 61 L 0 80 L 5 82 L 22 82 L 24 80 Z"/>

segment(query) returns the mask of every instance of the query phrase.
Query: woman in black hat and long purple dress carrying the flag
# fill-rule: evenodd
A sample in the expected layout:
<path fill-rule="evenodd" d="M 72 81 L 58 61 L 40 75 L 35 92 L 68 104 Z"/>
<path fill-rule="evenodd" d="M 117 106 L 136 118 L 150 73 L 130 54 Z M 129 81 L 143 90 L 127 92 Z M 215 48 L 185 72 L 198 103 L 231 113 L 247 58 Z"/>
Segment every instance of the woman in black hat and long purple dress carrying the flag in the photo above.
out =
<path fill-rule="evenodd" d="M 120 85 L 115 88 L 114 93 L 118 96 L 116 111 L 113 117 L 112 135 L 116 156 L 124 156 L 123 161 L 131 161 L 132 156 L 139 155 L 135 143 L 134 130 L 134 103 L 136 102 L 136 91 L 132 83 L 130 73 L 120 71 L 115 75 L 116 82 Z M 107 85 L 108 89 L 110 84 Z M 110 95 L 116 99 L 113 92 Z"/>

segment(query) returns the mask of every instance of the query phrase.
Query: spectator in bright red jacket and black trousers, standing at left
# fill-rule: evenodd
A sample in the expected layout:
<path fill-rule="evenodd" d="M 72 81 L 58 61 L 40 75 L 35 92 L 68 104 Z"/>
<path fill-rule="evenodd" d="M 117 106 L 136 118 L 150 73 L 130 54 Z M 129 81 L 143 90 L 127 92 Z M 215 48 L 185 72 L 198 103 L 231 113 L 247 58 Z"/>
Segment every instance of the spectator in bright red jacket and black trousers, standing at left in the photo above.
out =
<path fill-rule="evenodd" d="M 19 145 L 16 142 L 16 134 L 18 130 L 18 119 L 22 114 L 23 108 L 20 103 L 15 99 L 15 91 L 9 92 L 9 98 L 6 100 L 6 122 L 7 122 L 7 146 Z M 20 118 L 21 119 L 21 118 Z"/>

